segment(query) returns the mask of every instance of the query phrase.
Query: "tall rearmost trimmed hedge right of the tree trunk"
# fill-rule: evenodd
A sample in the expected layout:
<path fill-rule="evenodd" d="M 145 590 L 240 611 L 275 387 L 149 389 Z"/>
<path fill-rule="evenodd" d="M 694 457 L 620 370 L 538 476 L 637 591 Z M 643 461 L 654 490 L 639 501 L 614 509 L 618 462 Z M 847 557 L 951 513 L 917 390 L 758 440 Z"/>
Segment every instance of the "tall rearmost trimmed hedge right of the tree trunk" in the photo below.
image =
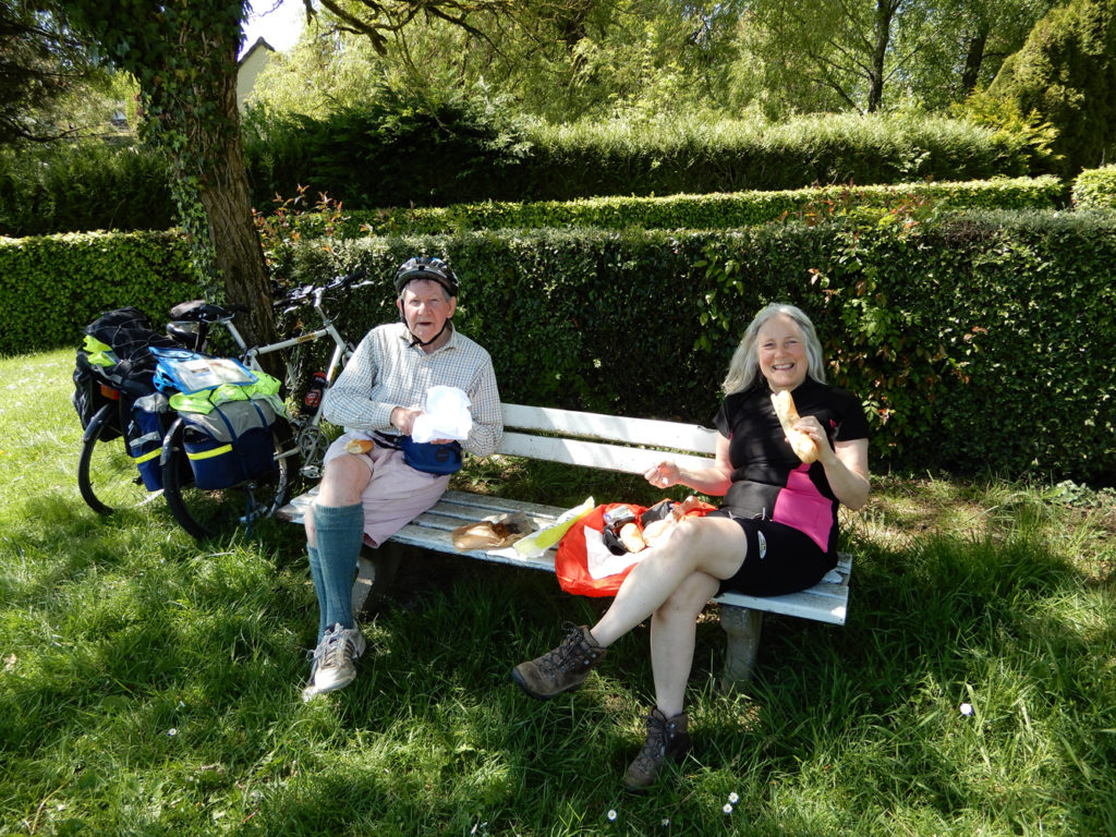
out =
<path fill-rule="evenodd" d="M 1026 138 L 940 117 L 600 124 L 522 131 L 477 113 L 343 110 L 291 117 L 246 143 L 252 192 L 300 185 L 350 210 L 569 201 L 1041 174 Z M 259 204 L 258 204 L 259 205 Z"/>

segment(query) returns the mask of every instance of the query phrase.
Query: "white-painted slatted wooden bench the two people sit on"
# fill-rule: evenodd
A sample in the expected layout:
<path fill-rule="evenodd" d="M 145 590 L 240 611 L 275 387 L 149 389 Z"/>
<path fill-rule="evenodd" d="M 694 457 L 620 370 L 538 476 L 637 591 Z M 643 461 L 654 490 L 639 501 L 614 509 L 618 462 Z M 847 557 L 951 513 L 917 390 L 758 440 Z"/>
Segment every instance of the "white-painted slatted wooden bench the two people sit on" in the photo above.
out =
<path fill-rule="evenodd" d="M 503 405 L 503 440 L 499 454 L 562 462 L 610 471 L 642 474 L 664 459 L 681 465 L 704 468 L 716 451 L 716 432 L 706 427 L 646 419 L 624 419 L 519 404 Z M 278 517 L 301 522 L 316 489 L 279 510 Z M 623 498 L 596 498 L 597 502 L 623 502 Z M 489 517 L 523 511 L 538 528 L 550 526 L 565 509 L 485 494 L 448 491 L 437 504 L 397 532 L 396 543 L 474 558 L 514 567 L 554 573 L 555 548 L 537 558 L 525 558 L 513 548 L 459 552 L 451 532 L 459 526 Z M 377 566 L 379 552 L 362 556 L 354 604 L 358 607 L 373 588 L 382 591 L 394 575 L 392 567 Z M 384 560 L 391 561 L 388 557 Z M 396 557 L 395 561 L 398 560 Z M 756 597 L 727 593 L 713 599 L 720 606 L 721 626 L 728 634 L 722 684 L 745 682 L 759 650 L 763 614 L 776 613 L 806 619 L 845 624 L 852 559 L 841 554 L 837 569 L 808 590 L 788 596 Z M 385 579 L 385 576 L 387 577 Z"/>

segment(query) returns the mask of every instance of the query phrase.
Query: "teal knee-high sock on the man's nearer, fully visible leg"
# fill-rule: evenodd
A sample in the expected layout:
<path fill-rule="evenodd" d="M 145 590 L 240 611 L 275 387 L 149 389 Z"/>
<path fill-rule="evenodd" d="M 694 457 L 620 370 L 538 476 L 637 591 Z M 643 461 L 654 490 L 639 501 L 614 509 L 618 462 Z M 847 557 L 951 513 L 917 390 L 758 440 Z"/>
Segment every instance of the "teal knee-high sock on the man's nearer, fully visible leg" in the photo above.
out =
<path fill-rule="evenodd" d="M 355 627 L 353 619 L 353 578 L 364 542 L 364 506 L 315 506 L 314 528 L 318 540 L 318 587 L 324 603 L 323 631 L 340 623 Z"/>

